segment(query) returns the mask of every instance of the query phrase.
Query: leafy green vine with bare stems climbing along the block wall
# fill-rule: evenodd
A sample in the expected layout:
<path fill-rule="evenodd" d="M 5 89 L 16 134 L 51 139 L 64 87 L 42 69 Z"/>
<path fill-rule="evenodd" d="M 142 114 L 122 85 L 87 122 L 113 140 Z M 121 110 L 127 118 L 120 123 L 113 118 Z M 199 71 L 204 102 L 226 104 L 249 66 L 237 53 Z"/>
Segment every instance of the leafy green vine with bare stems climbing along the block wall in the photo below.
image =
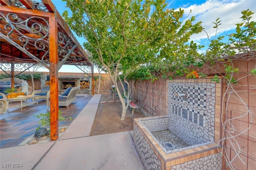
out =
<path fill-rule="evenodd" d="M 155 66 L 154 64 L 150 65 L 142 65 L 140 68 L 134 70 L 128 78 L 130 80 L 134 80 L 137 92 L 138 106 L 140 106 L 140 111 L 143 112 L 144 108 L 149 109 L 149 113 L 152 113 L 152 116 L 155 115 L 156 109 L 152 107 L 153 95 L 149 92 L 148 82 L 146 84 L 140 83 L 143 80 L 152 81 L 165 81 L 171 80 L 174 77 L 184 77 L 187 74 L 187 78 L 201 78 L 207 76 L 204 74 L 207 70 L 211 70 L 214 72 L 214 78 L 211 81 L 219 81 L 219 76 L 222 76 L 225 80 L 224 93 L 222 98 L 222 106 L 225 106 L 225 112 L 228 113 L 228 105 L 230 104 L 230 100 L 236 99 L 242 105 L 240 107 L 243 108 L 243 112 L 238 116 L 227 117 L 224 122 L 222 122 L 223 127 L 223 136 L 222 139 L 218 142 L 219 145 L 224 145 L 219 152 L 223 154 L 226 159 L 226 164 L 234 170 L 233 163 L 239 159 L 242 164 L 248 167 L 247 162 L 244 162 L 241 158 L 240 154 L 248 154 L 243 153 L 241 150 L 241 143 L 238 143 L 236 137 L 248 133 L 248 129 L 252 126 L 252 112 L 249 109 L 248 104 L 244 101 L 241 93 L 248 92 L 248 90 L 243 90 L 244 88 L 239 89 L 238 87 L 244 86 L 241 84 L 241 81 L 248 80 L 249 76 L 256 76 L 256 66 L 254 68 L 250 67 L 250 70 L 247 72 L 240 72 L 239 68 L 234 66 L 234 61 L 250 61 L 256 59 L 256 22 L 250 21 L 252 18 L 252 13 L 250 10 L 242 11 L 242 20 L 243 23 L 236 24 L 236 33 L 232 33 L 229 35 L 229 40 L 227 43 L 222 42 L 224 36 L 216 38 L 217 29 L 221 25 L 221 21 L 218 18 L 214 23 L 216 28 L 216 35 L 213 39 L 209 39 L 210 45 L 206 54 L 204 56 L 199 56 L 197 59 L 193 60 L 189 57 L 186 57 L 184 61 L 179 58 L 176 58 L 171 62 L 170 65 L 166 65 L 164 63 L 160 63 Z M 176 54 L 175 54 L 176 55 Z M 174 59 L 174 58 L 173 58 Z M 188 60 L 186 62 L 186 60 Z M 193 63 L 194 62 L 194 63 Z M 222 69 L 223 68 L 223 69 Z M 242 68 L 240 66 L 240 68 Z M 220 72 L 220 70 L 224 72 Z M 238 76 L 245 74 L 244 76 Z M 146 92 L 140 92 L 139 89 L 142 89 L 146 85 Z M 255 90 L 256 86 L 246 85 L 250 90 Z M 154 87 L 152 88 L 154 90 Z M 150 93 L 149 96 L 147 94 Z M 248 96 L 248 95 L 247 95 Z M 224 116 L 223 113 L 221 115 Z M 239 120 L 242 117 L 248 117 L 248 127 L 244 128 L 242 131 L 239 131 L 233 124 L 234 120 Z M 226 145 L 228 143 L 229 145 Z M 235 152 L 234 156 L 230 156 L 227 149 L 232 149 Z M 229 157 L 230 156 L 230 157 Z M 248 167 L 249 168 L 249 167 Z M 249 168 L 250 169 L 250 168 Z"/>

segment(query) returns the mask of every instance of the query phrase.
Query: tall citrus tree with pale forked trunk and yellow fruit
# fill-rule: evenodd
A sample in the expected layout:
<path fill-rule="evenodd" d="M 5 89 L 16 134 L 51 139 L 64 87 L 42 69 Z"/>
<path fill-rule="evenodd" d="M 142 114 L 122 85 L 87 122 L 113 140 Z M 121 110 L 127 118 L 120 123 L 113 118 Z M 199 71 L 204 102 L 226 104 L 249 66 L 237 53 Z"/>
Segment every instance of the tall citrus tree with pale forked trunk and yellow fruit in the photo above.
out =
<path fill-rule="evenodd" d="M 65 21 L 80 37 L 84 37 L 86 50 L 102 63 L 122 103 L 125 118 L 128 103 L 117 86 L 120 74 L 126 77 L 138 66 L 163 62 L 184 61 L 188 55 L 198 56 L 195 43 L 188 43 L 190 36 L 202 31 L 201 22 L 195 18 L 182 20 L 184 11 L 167 9 L 166 3 L 155 0 L 66 0 L 68 12 Z"/>

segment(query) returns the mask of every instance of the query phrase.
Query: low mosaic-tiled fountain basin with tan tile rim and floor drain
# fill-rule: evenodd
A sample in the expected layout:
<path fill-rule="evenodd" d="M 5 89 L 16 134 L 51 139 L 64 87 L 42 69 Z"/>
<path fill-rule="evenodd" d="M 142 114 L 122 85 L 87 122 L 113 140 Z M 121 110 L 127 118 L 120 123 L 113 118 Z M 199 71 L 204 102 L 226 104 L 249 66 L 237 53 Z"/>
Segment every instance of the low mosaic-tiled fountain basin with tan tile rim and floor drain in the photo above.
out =
<path fill-rule="evenodd" d="M 168 116 L 134 119 L 134 145 L 146 170 L 222 168 L 213 141 L 188 144 L 168 129 Z"/>

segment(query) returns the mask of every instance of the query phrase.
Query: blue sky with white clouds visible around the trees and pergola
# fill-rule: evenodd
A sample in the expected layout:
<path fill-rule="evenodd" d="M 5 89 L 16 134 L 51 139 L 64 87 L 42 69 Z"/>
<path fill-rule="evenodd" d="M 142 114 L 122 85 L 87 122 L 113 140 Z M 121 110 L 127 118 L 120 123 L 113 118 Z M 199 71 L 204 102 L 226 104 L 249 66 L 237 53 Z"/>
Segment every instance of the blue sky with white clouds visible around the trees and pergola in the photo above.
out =
<path fill-rule="evenodd" d="M 65 8 L 66 2 L 62 0 L 52 0 L 52 2 L 61 15 L 64 10 L 68 10 L 68 8 Z M 240 17 L 242 16 L 241 12 L 243 10 L 250 9 L 256 13 L 256 0 L 166 0 L 166 2 L 168 3 L 168 8 L 174 8 L 176 10 L 182 8 L 185 11 L 184 16 L 187 16 L 190 10 L 192 10 L 190 16 L 196 16 L 196 21 L 202 21 L 202 26 L 210 36 L 214 36 L 216 31 L 216 29 L 212 28 L 214 26 L 212 22 L 220 18 L 222 25 L 218 28 L 217 37 L 228 35 L 235 31 L 235 24 L 242 22 Z M 256 14 L 254 14 L 253 20 L 256 20 Z M 76 38 L 81 45 L 85 41 L 84 38 L 77 36 Z M 193 35 L 191 40 L 200 45 L 209 44 L 206 33 L 204 32 Z M 74 72 L 81 72 L 78 68 L 72 68 L 72 70 Z M 96 70 L 94 69 L 94 71 Z M 63 67 L 60 69 L 60 72 L 70 72 L 70 68 Z"/>

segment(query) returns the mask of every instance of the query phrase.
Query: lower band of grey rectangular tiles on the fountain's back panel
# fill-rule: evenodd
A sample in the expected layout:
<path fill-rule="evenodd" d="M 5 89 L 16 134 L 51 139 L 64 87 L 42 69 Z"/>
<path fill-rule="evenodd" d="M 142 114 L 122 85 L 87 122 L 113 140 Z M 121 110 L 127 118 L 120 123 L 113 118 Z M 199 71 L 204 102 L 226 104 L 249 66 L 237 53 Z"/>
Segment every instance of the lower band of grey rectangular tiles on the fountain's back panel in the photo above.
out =
<path fill-rule="evenodd" d="M 179 115 L 184 119 L 192 121 L 202 127 L 205 127 L 205 119 L 206 119 L 205 113 L 188 109 L 188 108 L 183 108 L 182 106 L 178 106 L 176 104 L 172 105 L 172 113 Z"/>

